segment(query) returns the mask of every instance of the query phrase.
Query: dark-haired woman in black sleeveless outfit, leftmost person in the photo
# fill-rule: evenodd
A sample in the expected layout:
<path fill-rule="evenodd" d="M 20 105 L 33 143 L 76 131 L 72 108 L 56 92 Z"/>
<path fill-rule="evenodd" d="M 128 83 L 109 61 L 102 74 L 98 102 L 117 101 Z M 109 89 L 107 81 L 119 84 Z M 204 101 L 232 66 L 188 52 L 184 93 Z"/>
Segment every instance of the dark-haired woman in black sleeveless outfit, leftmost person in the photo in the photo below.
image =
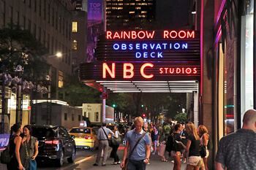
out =
<path fill-rule="evenodd" d="M 12 133 L 15 134 L 12 134 Z M 11 128 L 11 133 L 10 133 L 10 139 L 9 139 L 9 150 L 10 150 L 10 155 L 12 156 L 12 159 L 10 163 L 7 163 L 7 169 L 8 170 L 23 170 L 23 166 L 20 161 L 20 144 L 22 138 L 20 137 L 20 134 L 23 133 L 23 128 L 21 123 L 16 123 L 12 125 Z"/>

